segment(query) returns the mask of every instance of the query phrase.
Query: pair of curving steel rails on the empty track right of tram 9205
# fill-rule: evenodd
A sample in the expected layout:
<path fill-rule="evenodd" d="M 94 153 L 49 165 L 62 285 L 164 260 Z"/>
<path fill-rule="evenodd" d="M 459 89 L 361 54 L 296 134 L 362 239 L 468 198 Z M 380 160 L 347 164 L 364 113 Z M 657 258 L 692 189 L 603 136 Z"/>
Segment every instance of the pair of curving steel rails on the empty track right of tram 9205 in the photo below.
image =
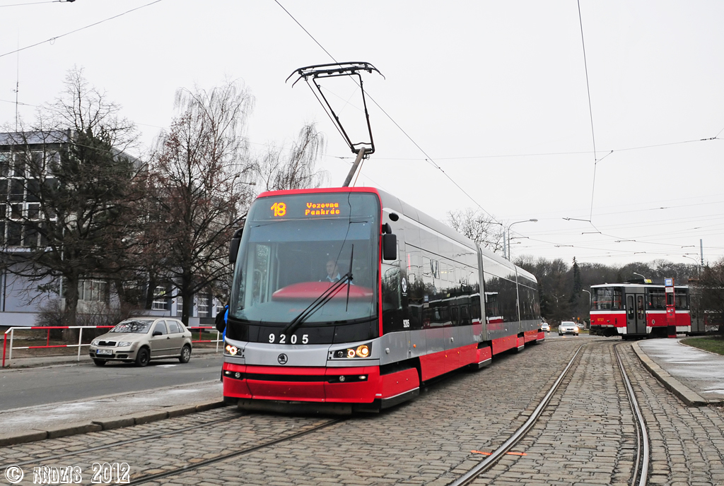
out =
<path fill-rule="evenodd" d="M 510 437 L 505 440 L 502 445 L 500 445 L 500 447 L 489 453 L 489 456 L 487 456 L 486 459 L 481 461 L 473 468 L 469 469 L 468 472 L 458 477 L 458 479 L 455 479 L 453 482 L 448 483 L 448 486 L 471 485 L 476 478 L 478 478 L 481 474 L 484 474 L 484 472 L 492 469 L 493 466 L 495 466 L 502 458 L 504 458 L 508 454 L 510 449 L 515 447 L 516 444 L 520 443 L 521 440 L 526 437 L 528 432 L 530 432 L 534 425 L 536 425 L 536 423 L 539 421 L 545 409 L 547 409 L 547 406 L 550 404 L 551 399 L 553 398 L 553 396 L 555 396 L 555 393 L 557 393 L 557 391 L 559 390 L 561 383 L 563 383 L 566 375 L 568 375 L 568 372 L 573 367 L 574 362 L 576 362 L 576 359 L 578 359 L 579 355 L 581 354 L 581 349 L 583 349 L 584 346 L 589 346 L 590 344 L 594 343 L 581 344 L 581 346 L 576 349 L 576 352 L 573 354 L 573 357 L 571 357 L 571 360 L 565 366 L 555 382 L 551 385 L 551 388 L 536 406 L 534 411 L 531 412 L 526 422 L 524 422 L 521 427 L 518 427 L 518 430 L 515 430 L 515 432 L 513 432 L 513 434 L 510 435 Z M 636 418 L 634 421 L 636 425 L 637 443 L 636 461 L 633 466 L 630 484 L 632 486 L 645 486 L 647 484 L 649 466 L 649 439 L 647 434 L 647 427 L 646 422 L 644 421 L 643 414 L 641 414 L 641 407 L 636 400 L 636 395 L 633 391 L 633 385 L 631 385 L 631 380 L 629 380 L 628 373 L 626 372 L 626 369 L 623 366 L 623 361 L 620 358 L 618 346 L 620 346 L 620 343 L 615 344 L 613 346 L 613 350 L 615 358 L 618 362 L 618 367 L 621 378 L 623 380 L 624 388 L 626 390 L 626 396 L 628 397 L 628 404 L 631 407 L 631 412 Z"/>

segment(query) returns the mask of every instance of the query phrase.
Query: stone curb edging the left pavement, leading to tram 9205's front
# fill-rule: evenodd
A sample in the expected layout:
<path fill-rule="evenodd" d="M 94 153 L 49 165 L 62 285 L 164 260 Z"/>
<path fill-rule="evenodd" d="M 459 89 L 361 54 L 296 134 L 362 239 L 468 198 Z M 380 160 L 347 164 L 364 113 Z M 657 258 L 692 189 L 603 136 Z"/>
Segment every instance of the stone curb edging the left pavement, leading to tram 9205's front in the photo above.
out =
<path fill-rule="evenodd" d="M 49 427 L 45 430 L 28 430 L 20 433 L 0 434 L 0 447 L 35 442 L 37 440 L 67 437 L 68 435 L 87 434 L 88 432 L 100 432 L 101 430 L 111 430 L 120 427 L 131 427 L 132 425 L 148 424 L 163 419 L 195 414 L 196 412 L 219 409 L 222 406 L 227 406 L 222 400 L 203 401 L 195 405 L 169 406 L 164 412 L 138 412 L 137 414 L 122 415 L 120 417 L 109 417 L 106 419 L 90 420 L 88 422 L 75 422 L 58 427 Z"/>

